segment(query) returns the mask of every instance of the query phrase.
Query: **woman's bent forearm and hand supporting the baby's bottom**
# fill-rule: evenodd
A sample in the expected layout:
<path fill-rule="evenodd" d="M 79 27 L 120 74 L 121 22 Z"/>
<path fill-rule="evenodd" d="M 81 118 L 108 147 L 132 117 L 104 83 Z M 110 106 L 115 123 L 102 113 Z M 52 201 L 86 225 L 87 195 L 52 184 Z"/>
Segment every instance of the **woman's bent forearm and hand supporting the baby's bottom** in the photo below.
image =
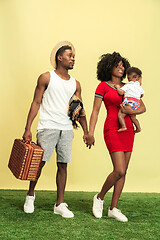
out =
<path fill-rule="evenodd" d="M 125 114 L 137 115 L 137 114 L 146 112 L 146 107 L 145 107 L 142 99 L 140 99 L 140 107 L 138 109 L 133 110 L 129 104 L 126 104 L 125 106 L 121 105 L 121 110 Z"/>

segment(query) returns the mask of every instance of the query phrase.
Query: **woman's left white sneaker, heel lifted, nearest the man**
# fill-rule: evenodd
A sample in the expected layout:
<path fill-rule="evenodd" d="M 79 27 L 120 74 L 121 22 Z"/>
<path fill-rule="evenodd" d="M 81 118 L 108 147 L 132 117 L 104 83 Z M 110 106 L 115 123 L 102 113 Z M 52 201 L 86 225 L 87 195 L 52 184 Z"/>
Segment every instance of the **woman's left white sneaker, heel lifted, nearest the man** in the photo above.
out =
<path fill-rule="evenodd" d="M 102 212 L 103 212 L 103 202 L 104 201 L 101 200 L 100 198 L 97 198 L 97 195 L 98 195 L 98 193 L 93 198 L 92 212 L 96 218 L 101 218 Z"/>

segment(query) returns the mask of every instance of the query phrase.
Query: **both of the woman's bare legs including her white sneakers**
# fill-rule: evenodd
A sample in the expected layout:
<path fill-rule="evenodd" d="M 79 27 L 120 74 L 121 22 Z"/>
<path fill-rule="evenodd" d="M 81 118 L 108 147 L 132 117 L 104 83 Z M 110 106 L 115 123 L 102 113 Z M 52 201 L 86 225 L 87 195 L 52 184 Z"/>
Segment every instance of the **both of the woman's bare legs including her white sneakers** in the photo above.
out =
<path fill-rule="evenodd" d="M 123 215 L 117 208 L 117 203 L 119 197 L 121 195 L 124 182 L 125 182 L 125 174 L 127 171 L 127 167 L 129 164 L 131 152 L 114 152 L 111 153 L 111 159 L 113 163 L 113 172 L 109 174 L 100 193 L 96 194 L 93 198 L 93 215 L 96 218 L 102 217 L 103 212 L 103 199 L 108 192 L 108 190 L 114 186 L 114 192 L 112 197 L 112 203 L 110 209 L 108 209 L 108 217 L 115 218 L 122 222 L 127 222 L 128 219 L 125 215 Z M 112 210 L 112 208 L 114 208 Z"/>

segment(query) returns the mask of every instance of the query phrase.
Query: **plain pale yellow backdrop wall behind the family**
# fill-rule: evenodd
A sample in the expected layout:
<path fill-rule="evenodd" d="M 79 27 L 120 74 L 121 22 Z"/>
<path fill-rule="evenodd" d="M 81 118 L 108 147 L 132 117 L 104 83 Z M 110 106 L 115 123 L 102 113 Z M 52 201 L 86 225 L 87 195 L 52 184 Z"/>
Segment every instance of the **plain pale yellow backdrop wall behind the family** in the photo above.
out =
<path fill-rule="evenodd" d="M 8 169 L 15 138 L 21 138 L 38 76 L 52 70 L 52 47 L 61 40 L 76 48 L 70 72 L 81 82 L 89 120 L 98 85 L 96 66 L 103 53 L 118 51 L 143 71 L 147 112 L 138 116 L 142 132 L 136 135 L 124 191 L 160 192 L 159 69 L 160 1 L 158 0 L 1 0 L 1 137 L 0 188 L 27 189 Z M 112 170 L 103 140 L 106 116 L 102 107 L 96 144 L 88 150 L 82 130 L 74 131 L 72 163 L 66 190 L 98 191 Z M 35 141 L 38 118 L 32 125 Z M 55 190 L 55 153 L 45 166 L 37 189 Z"/>

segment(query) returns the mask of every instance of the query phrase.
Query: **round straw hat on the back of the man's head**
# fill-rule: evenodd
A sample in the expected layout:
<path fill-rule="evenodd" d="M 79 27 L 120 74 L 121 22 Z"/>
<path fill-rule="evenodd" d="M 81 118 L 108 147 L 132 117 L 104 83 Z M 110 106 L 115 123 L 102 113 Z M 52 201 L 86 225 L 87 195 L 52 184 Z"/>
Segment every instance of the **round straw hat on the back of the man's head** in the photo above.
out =
<path fill-rule="evenodd" d="M 51 56 L 50 56 L 50 61 L 51 61 L 51 65 L 56 68 L 56 53 L 58 51 L 58 49 L 60 49 L 63 46 L 70 46 L 72 48 L 73 54 L 75 54 L 75 48 L 73 46 L 73 44 L 69 41 L 61 41 L 59 43 L 57 43 L 54 48 L 52 49 L 51 52 Z"/>

